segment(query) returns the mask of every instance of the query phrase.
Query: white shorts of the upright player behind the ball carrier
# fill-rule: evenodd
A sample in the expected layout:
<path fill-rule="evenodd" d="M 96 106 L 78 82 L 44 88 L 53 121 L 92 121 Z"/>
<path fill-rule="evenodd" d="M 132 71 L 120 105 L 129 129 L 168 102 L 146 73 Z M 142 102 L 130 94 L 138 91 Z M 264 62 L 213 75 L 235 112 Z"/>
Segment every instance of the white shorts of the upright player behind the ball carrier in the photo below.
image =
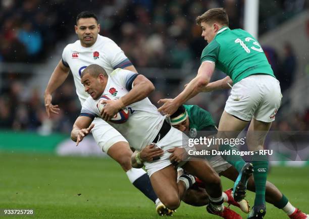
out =
<path fill-rule="evenodd" d="M 94 127 L 91 133 L 102 151 L 107 153 L 110 147 L 119 141 L 128 142 L 116 129 L 104 120 L 95 118 L 92 123 L 94 123 Z"/>

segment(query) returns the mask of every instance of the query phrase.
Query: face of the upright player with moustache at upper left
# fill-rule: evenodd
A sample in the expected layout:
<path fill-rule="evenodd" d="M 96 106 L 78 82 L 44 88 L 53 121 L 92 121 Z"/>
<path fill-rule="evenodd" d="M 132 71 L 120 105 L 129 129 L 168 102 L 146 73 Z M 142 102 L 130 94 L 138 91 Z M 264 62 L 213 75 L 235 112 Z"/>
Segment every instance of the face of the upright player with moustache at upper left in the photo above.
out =
<path fill-rule="evenodd" d="M 100 25 L 94 18 L 81 18 L 77 21 L 77 26 L 75 25 L 75 32 L 81 45 L 89 47 L 95 43 Z"/>

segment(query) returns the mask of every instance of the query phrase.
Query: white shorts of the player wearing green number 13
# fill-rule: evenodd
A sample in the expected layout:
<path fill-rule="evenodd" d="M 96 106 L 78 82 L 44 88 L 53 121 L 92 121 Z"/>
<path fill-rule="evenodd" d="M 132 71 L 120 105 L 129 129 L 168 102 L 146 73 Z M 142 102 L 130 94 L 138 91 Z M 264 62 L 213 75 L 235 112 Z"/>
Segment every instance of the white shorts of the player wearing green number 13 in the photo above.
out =
<path fill-rule="evenodd" d="M 279 81 L 270 75 L 251 75 L 236 83 L 224 110 L 245 121 L 272 122 L 281 105 Z"/>

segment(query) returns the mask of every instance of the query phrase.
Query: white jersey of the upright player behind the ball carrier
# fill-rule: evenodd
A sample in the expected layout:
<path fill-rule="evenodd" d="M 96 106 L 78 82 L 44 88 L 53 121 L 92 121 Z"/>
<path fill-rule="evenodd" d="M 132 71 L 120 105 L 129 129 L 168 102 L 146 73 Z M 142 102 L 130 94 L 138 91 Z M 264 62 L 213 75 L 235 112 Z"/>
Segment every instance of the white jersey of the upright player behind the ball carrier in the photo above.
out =
<path fill-rule="evenodd" d="M 113 40 L 101 35 L 97 36 L 95 43 L 90 47 L 83 47 L 80 40 L 68 44 L 63 50 L 62 62 L 65 66 L 70 67 L 72 71 L 76 93 L 81 105 L 89 96 L 80 82 L 80 75 L 87 66 L 97 64 L 110 75 L 114 69 L 132 65 Z"/>

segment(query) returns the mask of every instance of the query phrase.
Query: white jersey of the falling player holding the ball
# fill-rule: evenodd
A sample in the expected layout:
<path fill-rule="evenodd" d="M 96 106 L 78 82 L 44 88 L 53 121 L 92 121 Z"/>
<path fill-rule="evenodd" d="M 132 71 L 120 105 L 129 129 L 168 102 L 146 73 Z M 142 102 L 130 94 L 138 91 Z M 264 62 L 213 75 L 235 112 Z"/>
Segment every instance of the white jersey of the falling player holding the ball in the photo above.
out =
<path fill-rule="evenodd" d="M 137 74 L 134 72 L 116 69 L 110 74 L 102 95 L 112 94 L 116 98 L 126 95 L 131 90 L 136 77 Z M 88 116 L 92 119 L 100 117 L 100 112 L 96 107 L 98 100 L 99 98 L 94 100 L 89 96 L 82 105 L 81 116 Z M 148 98 L 134 102 L 127 107 L 130 115 L 125 123 L 108 123 L 127 139 L 131 147 L 141 150 L 155 139 L 165 117 L 158 112 L 158 108 Z"/>

